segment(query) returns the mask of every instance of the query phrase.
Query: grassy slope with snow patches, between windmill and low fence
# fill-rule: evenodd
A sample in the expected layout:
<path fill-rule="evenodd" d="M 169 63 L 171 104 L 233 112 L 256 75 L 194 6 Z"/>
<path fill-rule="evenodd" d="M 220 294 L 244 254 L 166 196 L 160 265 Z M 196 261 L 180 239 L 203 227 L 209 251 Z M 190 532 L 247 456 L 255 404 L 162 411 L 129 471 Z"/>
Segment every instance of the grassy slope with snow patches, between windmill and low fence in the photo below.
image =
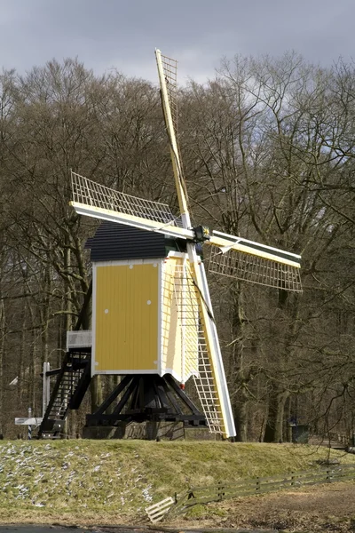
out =
<path fill-rule="evenodd" d="M 1 442 L 0 522 L 123 523 L 191 485 L 314 468 L 328 449 L 230 442 Z M 332 450 L 355 463 L 355 456 Z"/>

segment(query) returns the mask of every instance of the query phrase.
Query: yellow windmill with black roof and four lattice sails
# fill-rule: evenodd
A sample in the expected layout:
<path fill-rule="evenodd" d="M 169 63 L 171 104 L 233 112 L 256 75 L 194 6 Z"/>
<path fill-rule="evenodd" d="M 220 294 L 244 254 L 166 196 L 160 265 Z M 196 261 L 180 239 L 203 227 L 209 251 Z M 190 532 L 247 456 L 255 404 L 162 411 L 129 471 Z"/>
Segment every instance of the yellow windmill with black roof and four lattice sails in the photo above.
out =
<path fill-rule="evenodd" d="M 154 416 L 160 413 L 159 419 L 172 419 L 167 402 L 174 391 L 193 413 L 180 411 L 180 419 L 203 418 L 211 432 L 229 438 L 235 435 L 233 412 L 197 245 L 209 246 L 210 272 L 296 292 L 302 291 L 301 258 L 239 236 L 210 232 L 203 225 L 192 227 L 177 142 L 177 61 L 159 50 L 155 56 L 179 215 L 166 204 L 126 195 L 72 172 L 71 205 L 80 215 L 104 221 L 88 243 L 93 261 L 91 376 L 124 376 L 110 398 L 122 396 L 120 408 L 115 408 L 119 419 L 129 397 L 130 417 L 134 404 L 140 405 L 136 419 L 145 419 L 147 406 L 153 412 L 152 405 Z M 124 243 L 132 242 L 135 250 L 123 256 L 122 252 L 100 255 L 103 240 L 112 250 L 120 238 L 121 251 Z M 167 239 L 174 243 L 169 252 Z M 137 248 L 149 246 L 155 251 L 137 255 Z M 189 378 L 196 386 L 202 416 L 184 393 Z M 177 400 L 171 402 L 178 410 Z M 109 402 L 104 404 L 97 416 Z"/>

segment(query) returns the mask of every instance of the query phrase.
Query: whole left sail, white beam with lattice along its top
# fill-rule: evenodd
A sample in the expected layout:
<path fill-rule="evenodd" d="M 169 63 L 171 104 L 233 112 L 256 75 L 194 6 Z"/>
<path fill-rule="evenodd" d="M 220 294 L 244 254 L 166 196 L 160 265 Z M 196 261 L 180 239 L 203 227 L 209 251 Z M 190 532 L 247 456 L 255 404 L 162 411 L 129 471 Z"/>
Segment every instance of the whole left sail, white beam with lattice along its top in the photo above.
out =
<path fill-rule="evenodd" d="M 193 231 L 176 226 L 170 207 L 137 196 L 126 195 L 71 173 L 75 211 L 100 220 L 156 231 L 177 238 L 193 238 Z"/>

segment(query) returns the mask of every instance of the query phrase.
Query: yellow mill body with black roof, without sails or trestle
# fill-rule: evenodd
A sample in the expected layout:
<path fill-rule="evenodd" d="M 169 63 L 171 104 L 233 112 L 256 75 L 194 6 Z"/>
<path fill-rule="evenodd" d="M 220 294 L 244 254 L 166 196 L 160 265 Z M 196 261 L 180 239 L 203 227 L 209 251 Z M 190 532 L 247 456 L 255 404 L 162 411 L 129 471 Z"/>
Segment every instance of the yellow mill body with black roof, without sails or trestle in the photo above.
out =
<path fill-rule="evenodd" d="M 162 234 L 104 222 L 91 249 L 91 374 L 198 373 L 198 307 L 189 263 Z"/>

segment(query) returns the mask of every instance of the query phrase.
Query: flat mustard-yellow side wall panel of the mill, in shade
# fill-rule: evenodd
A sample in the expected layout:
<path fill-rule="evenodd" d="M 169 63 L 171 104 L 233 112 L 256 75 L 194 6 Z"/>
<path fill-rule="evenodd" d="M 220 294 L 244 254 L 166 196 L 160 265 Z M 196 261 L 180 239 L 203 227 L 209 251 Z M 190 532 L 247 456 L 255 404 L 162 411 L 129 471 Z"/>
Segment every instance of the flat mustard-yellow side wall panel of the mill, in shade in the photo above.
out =
<path fill-rule="evenodd" d="M 157 263 L 96 267 L 96 371 L 157 370 Z"/>

